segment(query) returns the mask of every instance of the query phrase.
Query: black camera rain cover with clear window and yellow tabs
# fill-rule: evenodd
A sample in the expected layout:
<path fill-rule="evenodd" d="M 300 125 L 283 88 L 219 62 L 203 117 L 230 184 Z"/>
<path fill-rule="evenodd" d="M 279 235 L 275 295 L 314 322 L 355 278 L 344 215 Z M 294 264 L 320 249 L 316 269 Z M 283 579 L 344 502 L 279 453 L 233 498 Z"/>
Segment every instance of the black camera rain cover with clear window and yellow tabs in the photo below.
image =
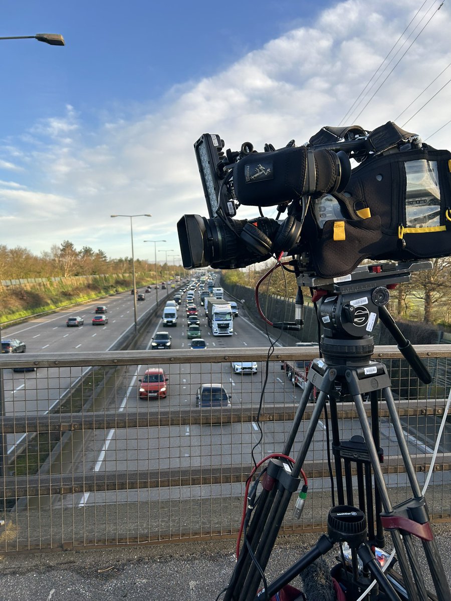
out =
<path fill-rule="evenodd" d="M 426 144 L 364 160 L 341 194 L 310 204 L 302 234 L 316 272 L 339 277 L 366 258 L 451 255 L 450 169 L 451 153 Z"/>

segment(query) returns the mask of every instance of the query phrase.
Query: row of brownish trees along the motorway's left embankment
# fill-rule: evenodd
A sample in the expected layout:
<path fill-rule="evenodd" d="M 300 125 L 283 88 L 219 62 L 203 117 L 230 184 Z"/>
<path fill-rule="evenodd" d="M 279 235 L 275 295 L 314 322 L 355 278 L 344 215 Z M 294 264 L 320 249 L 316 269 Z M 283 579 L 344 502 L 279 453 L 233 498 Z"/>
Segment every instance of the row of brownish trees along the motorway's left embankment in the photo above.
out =
<path fill-rule="evenodd" d="M 171 277 L 179 267 L 158 265 L 161 273 Z M 155 263 L 135 258 L 137 272 L 155 274 Z M 108 258 L 101 249 L 94 251 L 90 246 L 76 249 L 69 240 L 59 246 L 52 245 L 50 251 L 35 255 L 23 246 L 7 248 L 0 245 L 0 280 L 25 278 L 57 278 L 76 275 L 105 275 L 109 273 L 131 273 L 131 257 Z"/>

